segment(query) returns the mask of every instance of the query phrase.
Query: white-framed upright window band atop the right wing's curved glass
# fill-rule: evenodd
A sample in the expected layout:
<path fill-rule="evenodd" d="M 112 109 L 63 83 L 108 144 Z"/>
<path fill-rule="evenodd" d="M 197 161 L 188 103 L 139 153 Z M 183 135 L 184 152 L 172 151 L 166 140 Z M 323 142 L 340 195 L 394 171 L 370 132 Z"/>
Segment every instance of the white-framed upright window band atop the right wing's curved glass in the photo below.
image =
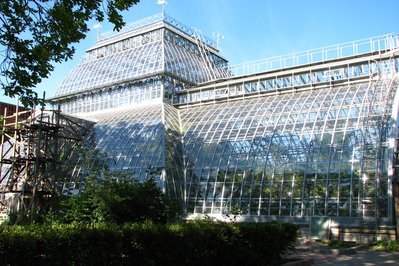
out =
<path fill-rule="evenodd" d="M 309 86 L 330 85 L 339 82 L 387 75 L 397 72 L 399 59 L 385 55 L 379 61 L 363 57 L 355 61 L 342 61 L 332 65 L 319 64 L 311 68 L 295 68 L 250 77 L 228 79 L 216 84 L 198 86 L 182 91 L 174 96 L 173 104 L 206 103 L 212 100 L 234 99 L 238 96 L 275 93 L 284 90 L 297 90 Z M 371 57 L 373 58 L 373 57 Z M 377 57 L 376 57 L 377 58 Z"/>

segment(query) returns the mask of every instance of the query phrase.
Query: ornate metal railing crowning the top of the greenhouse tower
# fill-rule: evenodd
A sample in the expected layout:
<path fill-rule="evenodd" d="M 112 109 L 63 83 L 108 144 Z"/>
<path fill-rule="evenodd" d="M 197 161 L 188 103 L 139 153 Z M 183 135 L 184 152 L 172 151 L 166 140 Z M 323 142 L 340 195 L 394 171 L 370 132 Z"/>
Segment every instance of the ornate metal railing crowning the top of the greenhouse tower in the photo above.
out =
<path fill-rule="evenodd" d="M 177 21 L 176 19 L 172 18 L 171 16 L 169 16 L 166 13 L 159 13 L 150 17 L 146 17 L 143 19 L 140 19 L 138 21 L 135 21 L 133 23 L 129 23 L 126 26 L 124 26 L 119 32 L 114 32 L 114 31 L 106 31 L 104 33 L 99 33 L 97 36 L 97 41 L 103 41 L 109 38 L 112 38 L 116 35 L 120 35 L 122 33 L 126 33 L 129 31 L 133 31 L 157 22 L 164 22 L 169 24 L 170 26 L 176 28 L 177 30 L 180 30 L 181 32 L 196 38 L 196 34 L 198 32 L 198 30 L 191 28 L 189 26 L 184 25 L 183 23 Z M 201 34 L 201 41 L 204 42 L 205 44 L 207 44 L 208 46 L 214 48 L 217 50 L 217 44 L 216 41 L 212 40 L 211 38 L 204 36 Z"/>

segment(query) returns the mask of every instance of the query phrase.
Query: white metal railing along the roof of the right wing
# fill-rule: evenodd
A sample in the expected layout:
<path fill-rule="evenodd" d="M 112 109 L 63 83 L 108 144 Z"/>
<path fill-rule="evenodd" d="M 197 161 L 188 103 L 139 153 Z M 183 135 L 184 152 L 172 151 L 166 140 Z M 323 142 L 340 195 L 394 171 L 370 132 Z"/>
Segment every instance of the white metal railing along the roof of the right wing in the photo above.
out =
<path fill-rule="evenodd" d="M 321 63 L 366 53 L 385 52 L 398 48 L 399 34 L 390 33 L 358 41 L 231 65 L 229 70 L 233 76 L 244 76 L 277 69 Z"/>

